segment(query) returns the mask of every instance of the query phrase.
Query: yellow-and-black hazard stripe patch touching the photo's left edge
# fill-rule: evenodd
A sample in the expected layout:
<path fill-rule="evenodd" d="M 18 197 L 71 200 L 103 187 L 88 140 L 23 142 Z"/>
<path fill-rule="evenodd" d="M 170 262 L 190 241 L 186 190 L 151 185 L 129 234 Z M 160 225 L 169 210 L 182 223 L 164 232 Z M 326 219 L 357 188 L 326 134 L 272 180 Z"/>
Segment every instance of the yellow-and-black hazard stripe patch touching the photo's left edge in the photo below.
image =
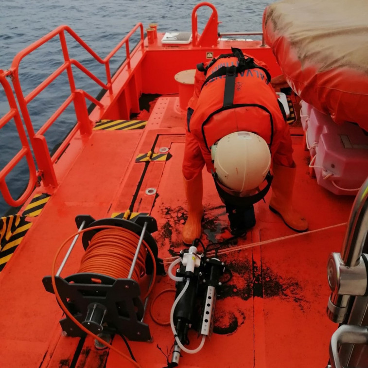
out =
<path fill-rule="evenodd" d="M 31 226 L 32 222 L 27 222 L 23 216 L 15 215 L 0 218 L 0 272 Z"/>

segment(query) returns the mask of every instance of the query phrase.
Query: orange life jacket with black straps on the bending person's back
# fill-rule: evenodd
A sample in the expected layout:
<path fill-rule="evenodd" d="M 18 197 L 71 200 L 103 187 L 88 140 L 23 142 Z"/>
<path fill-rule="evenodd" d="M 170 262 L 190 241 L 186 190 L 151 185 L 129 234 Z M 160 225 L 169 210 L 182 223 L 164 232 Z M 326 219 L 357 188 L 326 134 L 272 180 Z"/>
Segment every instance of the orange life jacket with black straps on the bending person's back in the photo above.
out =
<path fill-rule="evenodd" d="M 189 130 L 208 156 L 210 146 L 224 136 L 249 131 L 260 135 L 269 145 L 275 131 L 284 128 L 280 102 L 270 84 L 270 75 L 240 49 L 213 59 L 204 68 L 207 79 L 202 86 L 190 121 Z M 207 151 L 207 152 L 206 152 Z"/>

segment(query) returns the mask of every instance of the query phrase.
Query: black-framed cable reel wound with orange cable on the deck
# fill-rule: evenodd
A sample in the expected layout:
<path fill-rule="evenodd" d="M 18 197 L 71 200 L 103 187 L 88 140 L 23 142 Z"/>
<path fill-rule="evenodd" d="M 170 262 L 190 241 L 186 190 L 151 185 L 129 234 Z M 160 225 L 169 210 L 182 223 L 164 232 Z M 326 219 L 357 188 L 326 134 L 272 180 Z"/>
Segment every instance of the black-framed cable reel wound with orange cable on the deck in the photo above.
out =
<path fill-rule="evenodd" d="M 54 275 L 61 303 L 91 333 L 104 331 L 119 333 L 133 341 L 151 341 L 149 327 L 142 322 L 145 299 L 154 286 L 156 273 L 164 274 L 157 244 L 151 236 L 157 230 L 156 220 L 137 216 L 134 221 L 115 218 L 96 221 L 80 215 L 76 223 L 83 233 L 86 252 L 78 273 L 62 278 L 61 270 L 78 234 Z M 146 274 L 152 276 L 148 290 L 142 295 L 140 280 Z M 54 293 L 52 279 L 47 276 L 43 283 L 47 291 Z M 68 314 L 60 325 L 69 336 L 85 335 Z"/>

